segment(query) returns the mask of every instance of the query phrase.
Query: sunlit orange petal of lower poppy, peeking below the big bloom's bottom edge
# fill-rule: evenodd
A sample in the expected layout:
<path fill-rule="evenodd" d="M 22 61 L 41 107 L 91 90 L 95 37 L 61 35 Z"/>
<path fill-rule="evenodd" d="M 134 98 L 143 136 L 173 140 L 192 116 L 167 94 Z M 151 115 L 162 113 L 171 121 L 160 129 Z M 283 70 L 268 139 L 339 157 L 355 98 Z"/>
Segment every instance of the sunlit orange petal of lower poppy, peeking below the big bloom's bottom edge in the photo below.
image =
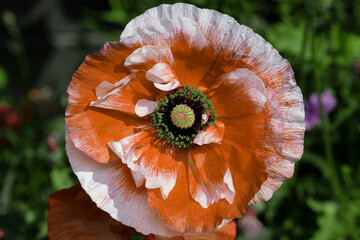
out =
<path fill-rule="evenodd" d="M 231 221 L 223 227 L 206 233 L 188 233 L 181 237 L 166 238 L 155 235 L 146 236 L 146 240 L 234 240 L 236 237 L 236 223 Z"/>

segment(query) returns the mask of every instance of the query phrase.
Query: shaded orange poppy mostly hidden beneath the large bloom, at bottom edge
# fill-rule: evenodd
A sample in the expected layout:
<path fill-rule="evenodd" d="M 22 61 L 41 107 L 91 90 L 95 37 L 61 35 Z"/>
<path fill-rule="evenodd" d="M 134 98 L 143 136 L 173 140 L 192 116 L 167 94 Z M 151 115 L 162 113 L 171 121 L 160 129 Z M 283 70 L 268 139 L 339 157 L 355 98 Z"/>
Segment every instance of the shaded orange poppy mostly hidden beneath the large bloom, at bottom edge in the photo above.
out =
<path fill-rule="evenodd" d="M 0 230 L 1 231 L 1 230 Z M 53 193 L 49 198 L 48 237 L 50 240 L 130 240 L 139 235 L 133 228 L 116 221 L 91 201 L 77 184 L 71 188 Z M 204 234 L 187 234 L 175 238 L 149 235 L 148 240 L 234 240 L 234 221 L 222 228 Z"/>

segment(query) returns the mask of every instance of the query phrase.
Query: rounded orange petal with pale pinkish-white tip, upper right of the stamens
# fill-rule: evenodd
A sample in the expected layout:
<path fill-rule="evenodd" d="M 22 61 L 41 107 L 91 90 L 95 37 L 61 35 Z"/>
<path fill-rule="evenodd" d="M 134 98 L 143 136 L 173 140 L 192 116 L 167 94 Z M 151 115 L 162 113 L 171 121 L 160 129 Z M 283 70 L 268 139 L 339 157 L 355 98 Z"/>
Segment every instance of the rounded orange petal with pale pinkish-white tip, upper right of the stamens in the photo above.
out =
<path fill-rule="evenodd" d="M 218 83 L 207 91 L 216 114 L 223 118 L 239 118 L 259 113 L 264 109 L 266 90 L 264 83 L 246 68 L 225 73 Z"/>

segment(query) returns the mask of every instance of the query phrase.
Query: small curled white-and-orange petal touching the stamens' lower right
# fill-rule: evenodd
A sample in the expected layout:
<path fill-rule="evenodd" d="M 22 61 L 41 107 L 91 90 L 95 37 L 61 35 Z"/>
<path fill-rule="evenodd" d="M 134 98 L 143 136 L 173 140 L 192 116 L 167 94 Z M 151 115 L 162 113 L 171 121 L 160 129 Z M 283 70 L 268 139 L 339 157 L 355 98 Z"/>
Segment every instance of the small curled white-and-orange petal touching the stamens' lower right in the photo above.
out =
<path fill-rule="evenodd" d="M 196 135 L 193 143 L 197 145 L 204 145 L 210 143 L 221 143 L 225 133 L 224 123 L 221 121 L 215 121 L 215 126 L 208 126 L 206 129 Z"/>

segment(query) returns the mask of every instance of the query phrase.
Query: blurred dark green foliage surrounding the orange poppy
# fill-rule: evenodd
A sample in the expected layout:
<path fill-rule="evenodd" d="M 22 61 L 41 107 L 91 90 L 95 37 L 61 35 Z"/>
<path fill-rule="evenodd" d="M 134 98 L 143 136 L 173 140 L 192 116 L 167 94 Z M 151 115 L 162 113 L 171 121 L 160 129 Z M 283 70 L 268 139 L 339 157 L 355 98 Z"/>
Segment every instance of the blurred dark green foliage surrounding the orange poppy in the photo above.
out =
<path fill-rule="evenodd" d="M 0 3 L 0 229 L 46 239 L 47 201 L 77 183 L 64 149 L 66 87 L 87 53 L 119 39 L 146 9 L 176 1 L 37 0 Z M 192 0 L 234 17 L 291 63 L 304 97 L 330 89 L 338 105 L 306 132 L 291 180 L 257 204 L 258 239 L 360 238 L 360 1 Z M 3 105 L 0 105 L 3 106 Z M 57 141 L 55 152 L 46 139 Z M 241 230 L 238 239 L 245 239 Z"/>

